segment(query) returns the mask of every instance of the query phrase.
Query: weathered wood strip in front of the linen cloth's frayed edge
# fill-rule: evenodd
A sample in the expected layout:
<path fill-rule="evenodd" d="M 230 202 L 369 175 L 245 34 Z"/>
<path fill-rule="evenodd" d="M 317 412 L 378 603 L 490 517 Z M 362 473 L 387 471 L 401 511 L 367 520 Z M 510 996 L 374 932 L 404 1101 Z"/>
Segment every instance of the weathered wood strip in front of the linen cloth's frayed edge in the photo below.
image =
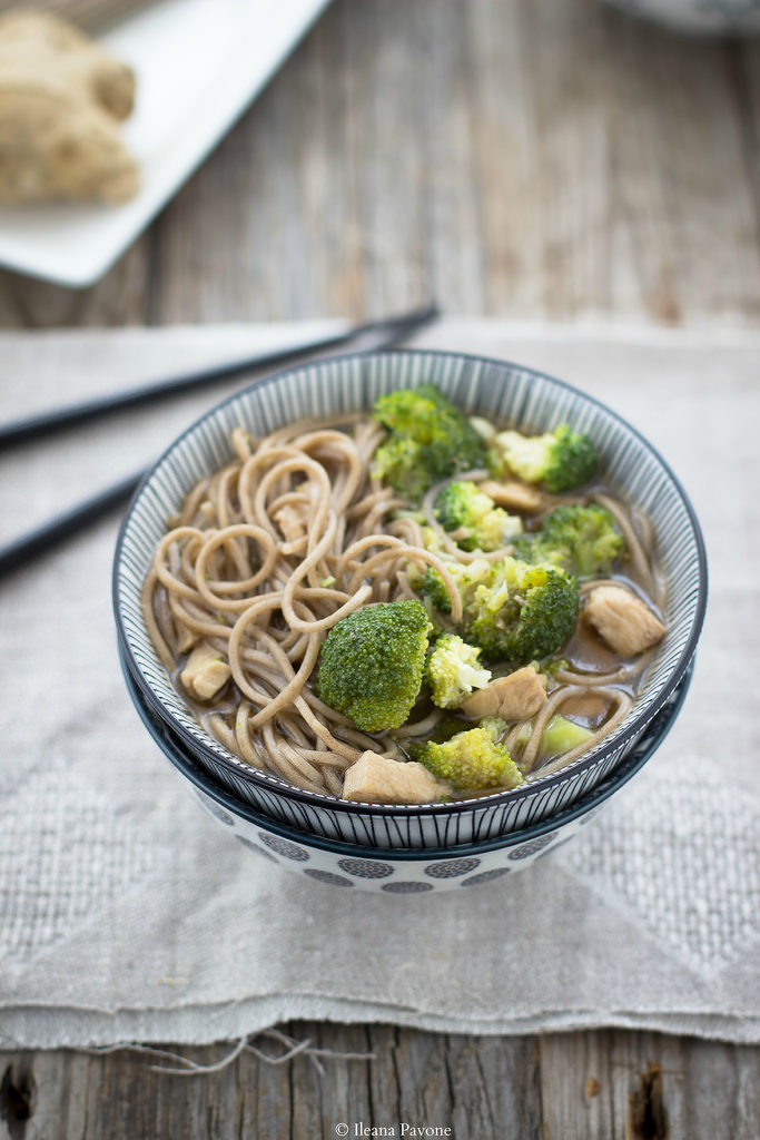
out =
<path fill-rule="evenodd" d="M 218 1073 L 172 1076 L 152 1069 L 170 1060 L 136 1052 L 2 1053 L 0 1140 L 332 1138 L 342 1124 L 350 1137 L 371 1135 L 362 1127 L 400 1135 L 402 1123 L 479 1140 L 760 1135 L 758 1049 L 621 1031 L 471 1037 L 379 1025 L 285 1029 L 335 1056 L 320 1053 L 320 1068 L 304 1053 L 272 1065 L 246 1052 Z M 271 1041 L 258 1044 L 283 1052 Z M 179 1052 L 214 1065 L 231 1049 Z M 374 1057 L 338 1056 L 345 1052 Z M 9 1106 L 24 1102 L 11 1085 L 35 1090 L 27 1119 L 9 1119 Z"/>

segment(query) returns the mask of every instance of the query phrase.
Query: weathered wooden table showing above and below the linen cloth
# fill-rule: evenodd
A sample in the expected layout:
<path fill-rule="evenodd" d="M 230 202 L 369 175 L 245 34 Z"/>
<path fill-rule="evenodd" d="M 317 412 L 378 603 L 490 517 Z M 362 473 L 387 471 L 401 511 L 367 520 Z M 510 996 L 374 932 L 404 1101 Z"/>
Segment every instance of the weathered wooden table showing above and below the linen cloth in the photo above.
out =
<path fill-rule="evenodd" d="M 589 0 L 334 0 L 100 284 L 0 274 L 0 326 L 360 318 L 431 293 L 449 312 L 758 327 L 760 41 L 678 40 Z M 281 1028 L 373 1059 L 246 1052 L 171 1077 L 137 1052 L 3 1053 L 0 1140 L 344 1122 L 351 1137 L 760 1135 L 760 1049 Z M 182 1052 L 213 1065 L 230 1048 Z"/>

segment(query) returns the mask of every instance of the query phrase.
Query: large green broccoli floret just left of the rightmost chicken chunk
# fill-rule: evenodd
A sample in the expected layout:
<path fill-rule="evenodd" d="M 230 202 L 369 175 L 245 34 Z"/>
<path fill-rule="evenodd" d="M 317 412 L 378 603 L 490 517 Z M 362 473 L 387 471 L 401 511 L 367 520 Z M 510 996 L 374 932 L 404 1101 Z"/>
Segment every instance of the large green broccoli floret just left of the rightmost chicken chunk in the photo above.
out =
<path fill-rule="evenodd" d="M 504 559 L 463 602 L 463 636 L 480 645 L 487 660 L 525 663 L 554 653 L 570 638 L 579 589 L 558 567 Z"/>

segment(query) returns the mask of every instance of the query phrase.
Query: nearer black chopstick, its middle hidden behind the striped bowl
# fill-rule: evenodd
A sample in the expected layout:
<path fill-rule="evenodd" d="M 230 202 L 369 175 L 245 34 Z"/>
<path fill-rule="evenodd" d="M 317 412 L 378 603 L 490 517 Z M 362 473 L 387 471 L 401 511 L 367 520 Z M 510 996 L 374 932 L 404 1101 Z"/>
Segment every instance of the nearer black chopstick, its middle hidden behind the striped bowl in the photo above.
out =
<path fill-rule="evenodd" d="M 416 328 L 430 324 L 438 316 L 438 307 L 431 304 L 426 309 L 420 309 L 403 317 L 362 325 L 360 328 L 354 329 L 351 334 L 351 340 L 354 337 L 361 340 L 363 337 L 368 342 L 363 348 L 357 350 L 362 355 L 365 352 L 379 352 L 383 349 L 393 348 L 394 344 L 403 341 Z M 301 355 L 301 350 L 297 350 L 297 355 Z M 261 376 L 258 382 L 264 378 L 265 376 Z M 130 475 L 128 479 L 114 483 L 106 490 L 99 491 L 92 498 L 79 503 L 63 514 L 56 515 L 49 522 L 42 523 L 36 529 L 0 547 L 0 577 L 10 573 L 13 570 L 21 569 L 21 567 L 31 562 L 40 554 L 47 554 L 48 551 L 59 546 L 68 538 L 73 538 L 74 535 L 80 534 L 87 527 L 103 519 L 111 511 L 123 506 L 130 500 L 144 477 L 144 471 Z"/>

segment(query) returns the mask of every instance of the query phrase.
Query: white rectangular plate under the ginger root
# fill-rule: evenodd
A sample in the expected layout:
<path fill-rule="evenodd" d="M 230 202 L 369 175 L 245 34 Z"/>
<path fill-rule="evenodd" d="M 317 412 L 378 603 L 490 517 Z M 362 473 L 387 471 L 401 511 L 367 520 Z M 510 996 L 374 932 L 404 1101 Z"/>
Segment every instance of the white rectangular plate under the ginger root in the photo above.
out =
<path fill-rule="evenodd" d="M 0 264 L 98 280 L 279 67 L 328 0 L 160 0 L 101 38 L 137 75 L 123 138 L 141 189 L 123 206 L 0 207 Z"/>

